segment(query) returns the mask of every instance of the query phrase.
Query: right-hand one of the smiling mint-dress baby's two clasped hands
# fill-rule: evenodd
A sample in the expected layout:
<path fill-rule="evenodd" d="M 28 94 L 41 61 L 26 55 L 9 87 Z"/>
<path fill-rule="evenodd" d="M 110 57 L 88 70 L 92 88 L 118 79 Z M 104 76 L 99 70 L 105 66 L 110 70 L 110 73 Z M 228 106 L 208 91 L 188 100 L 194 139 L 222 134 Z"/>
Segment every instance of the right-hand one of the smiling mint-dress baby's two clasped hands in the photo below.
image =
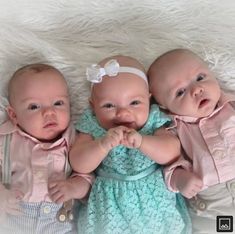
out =
<path fill-rule="evenodd" d="M 124 133 L 123 145 L 129 148 L 139 148 L 142 143 L 142 135 L 135 129 L 128 129 Z"/>

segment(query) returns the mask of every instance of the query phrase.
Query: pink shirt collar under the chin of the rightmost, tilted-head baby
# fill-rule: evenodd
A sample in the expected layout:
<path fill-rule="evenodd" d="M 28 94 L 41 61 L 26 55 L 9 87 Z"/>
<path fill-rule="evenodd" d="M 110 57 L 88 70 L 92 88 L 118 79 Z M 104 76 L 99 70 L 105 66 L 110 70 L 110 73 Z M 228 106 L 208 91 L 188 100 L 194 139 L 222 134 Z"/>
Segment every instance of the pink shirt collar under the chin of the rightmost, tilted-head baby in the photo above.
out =
<path fill-rule="evenodd" d="M 187 123 L 197 123 L 202 119 L 209 119 L 211 116 L 215 115 L 218 111 L 220 111 L 227 103 L 233 103 L 235 102 L 235 96 L 231 93 L 221 93 L 221 97 L 218 101 L 217 108 L 209 115 L 203 118 L 195 118 L 195 117 L 190 117 L 190 116 L 180 116 L 180 115 L 170 115 L 171 118 L 174 121 L 174 126 L 177 125 L 177 120 L 181 120 L 183 122 Z"/>

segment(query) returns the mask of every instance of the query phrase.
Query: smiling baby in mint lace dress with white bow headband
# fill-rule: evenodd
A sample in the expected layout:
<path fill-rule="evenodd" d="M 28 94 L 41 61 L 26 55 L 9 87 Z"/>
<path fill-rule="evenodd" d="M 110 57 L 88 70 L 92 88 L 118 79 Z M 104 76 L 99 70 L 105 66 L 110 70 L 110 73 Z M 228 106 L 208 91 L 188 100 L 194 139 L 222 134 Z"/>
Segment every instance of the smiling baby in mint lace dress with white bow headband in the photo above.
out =
<path fill-rule="evenodd" d="M 177 159 L 180 144 L 163 128 L 169 119 L 149 104 L 142 65 L 114 56 L 92 65 L 87 77 L 91 108 L 76 124 L 70 162 L 96 180 L 79 207 L 78 233 L 191 233 L 184 200 L 167 190 L 160 165 Z"/>

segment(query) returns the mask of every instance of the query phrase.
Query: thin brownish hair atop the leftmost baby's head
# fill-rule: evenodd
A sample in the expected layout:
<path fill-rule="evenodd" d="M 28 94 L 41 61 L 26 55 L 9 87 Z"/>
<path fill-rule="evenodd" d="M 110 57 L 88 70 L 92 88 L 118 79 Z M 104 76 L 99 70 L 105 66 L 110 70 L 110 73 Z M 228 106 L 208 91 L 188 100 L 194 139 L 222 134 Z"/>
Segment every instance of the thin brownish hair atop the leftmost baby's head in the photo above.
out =
<path fill-rule="evenodd" d="M 10 100 L 13 84 L 18 77 L 20 77 L 21 75 L 23 75 L 27 72 L 32 72 L 33 74 L 36 74 L 36 73 L 41 73 L 41 72 L 47 71 L 47 70 L 54 70 L 55 72 L 58 72 L 62 75 L 62 73 L 58 69 L 56 69 L 55 67 L 53 67 L 51 65 L 44 64 L 44 63 L 28 64 L 28 65 L 23 66 L 23 67 L 19 68 L 18 70 L 16 70 L 13 73 L 13 75 L 11 76 L 10 81 L 8 83 L 8 99 Z"/>

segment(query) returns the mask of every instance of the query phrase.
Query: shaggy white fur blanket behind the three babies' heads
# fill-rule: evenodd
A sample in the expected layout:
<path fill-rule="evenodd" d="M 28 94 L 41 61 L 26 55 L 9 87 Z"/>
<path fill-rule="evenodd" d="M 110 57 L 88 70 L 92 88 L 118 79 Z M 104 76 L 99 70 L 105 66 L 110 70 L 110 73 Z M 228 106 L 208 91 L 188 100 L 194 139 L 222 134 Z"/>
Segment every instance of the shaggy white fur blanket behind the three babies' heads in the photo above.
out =
<path fill-rule="evenodd" d="M 20 66 L 49 63 L 68 81 L 76 120 L 88 104 L 88 65 L 124 54 L 147 69 L 176 47 L 201 55 L 234 91 L 235 1 L 0 0 L 0 95 Z"/>

